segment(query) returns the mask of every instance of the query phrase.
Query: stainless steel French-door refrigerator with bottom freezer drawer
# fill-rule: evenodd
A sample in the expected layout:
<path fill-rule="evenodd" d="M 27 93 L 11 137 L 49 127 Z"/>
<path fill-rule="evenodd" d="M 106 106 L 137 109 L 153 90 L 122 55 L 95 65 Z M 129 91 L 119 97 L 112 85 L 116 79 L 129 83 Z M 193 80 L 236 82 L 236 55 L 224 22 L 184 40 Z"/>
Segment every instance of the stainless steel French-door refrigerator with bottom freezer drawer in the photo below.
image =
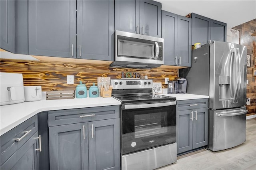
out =
<path fill-rule="evenodd" d="M 209 144 L 224 150 L 246 140 L 247 47 L 217 42 L 192 50 L 192 67 L 180 69 L 187 93 L 209 95 Z"/>

